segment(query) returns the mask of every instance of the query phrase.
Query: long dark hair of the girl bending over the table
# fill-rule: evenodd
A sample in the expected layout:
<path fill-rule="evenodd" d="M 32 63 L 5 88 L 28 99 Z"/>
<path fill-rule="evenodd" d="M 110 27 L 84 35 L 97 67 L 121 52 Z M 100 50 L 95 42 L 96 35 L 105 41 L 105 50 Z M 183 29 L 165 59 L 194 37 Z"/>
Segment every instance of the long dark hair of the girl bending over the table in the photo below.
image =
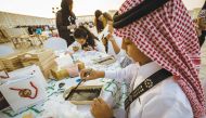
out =
<path fill-rule="evenodd" d="M 88 28 L 85 26 L 79 26 L 75 32 L 74 37 L 76 39 L 86 39 L 86 43 L 82 45 L 82 48 L 86 48 L 88 45 L 94 48 L 95 47 L 95 40 L 99 40 Z"/>

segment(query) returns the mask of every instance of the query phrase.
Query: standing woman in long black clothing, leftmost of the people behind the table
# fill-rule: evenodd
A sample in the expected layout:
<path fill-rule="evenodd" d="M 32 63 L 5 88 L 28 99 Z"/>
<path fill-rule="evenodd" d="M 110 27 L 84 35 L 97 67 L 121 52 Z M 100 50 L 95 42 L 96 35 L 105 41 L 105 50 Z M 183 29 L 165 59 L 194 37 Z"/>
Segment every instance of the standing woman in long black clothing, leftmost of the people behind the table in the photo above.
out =
<path fill-rule="evenodd" d="M 62 0 L 61 10 L 56 13 L 56 27 L 61 38 L 70 45 L 75 39 L 73 31 L 76 28 L 76 16 L 73 12 L 73 0 Z"/>

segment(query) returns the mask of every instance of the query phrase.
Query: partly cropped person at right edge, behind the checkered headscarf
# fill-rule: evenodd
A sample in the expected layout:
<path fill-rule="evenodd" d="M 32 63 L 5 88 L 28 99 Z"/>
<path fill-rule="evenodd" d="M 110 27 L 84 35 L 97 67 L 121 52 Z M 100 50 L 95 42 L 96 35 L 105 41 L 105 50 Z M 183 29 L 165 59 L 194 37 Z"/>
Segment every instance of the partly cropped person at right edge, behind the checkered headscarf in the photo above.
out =
<path fill-rule="evenodd" d="M 198 21 L 198 28 L 202 32 L 198 37 L 198 41 L 199 45 L 202 47 L 203 43 L 205 42 L 205 37 L 206 37 L 206 1 L 198 14 L 197 21 Z"/>

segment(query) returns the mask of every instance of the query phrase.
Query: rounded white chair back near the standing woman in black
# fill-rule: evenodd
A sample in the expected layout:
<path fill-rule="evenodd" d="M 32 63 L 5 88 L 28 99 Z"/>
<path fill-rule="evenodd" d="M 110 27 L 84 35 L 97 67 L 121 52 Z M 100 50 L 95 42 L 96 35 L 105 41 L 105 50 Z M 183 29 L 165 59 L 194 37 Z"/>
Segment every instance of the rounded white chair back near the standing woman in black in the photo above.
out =
<path fill-rule="evenodd" d="M 62 38 L 51 37 L 44 41 L 43 47 L 47 49 L 52 49 L 54 51 L 61 51 L 67 49 L 67 43 Z"/>

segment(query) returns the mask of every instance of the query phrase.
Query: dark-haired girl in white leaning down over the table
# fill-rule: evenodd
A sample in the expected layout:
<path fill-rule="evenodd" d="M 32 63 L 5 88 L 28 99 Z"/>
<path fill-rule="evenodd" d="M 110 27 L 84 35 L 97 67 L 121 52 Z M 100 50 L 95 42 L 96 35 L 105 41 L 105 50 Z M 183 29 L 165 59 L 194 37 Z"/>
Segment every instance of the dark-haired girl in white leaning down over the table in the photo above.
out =
<path fill-rule="evenodd" d="M 104 45 L 99 41 L 99 39 L 85 26 L 79 26 L 75 32 L 74 37 L 76 41 L 68 47 L 68 52 L 75 52 L 78 50 L 85 51 L 99 51 L 105 53 Z"/>

